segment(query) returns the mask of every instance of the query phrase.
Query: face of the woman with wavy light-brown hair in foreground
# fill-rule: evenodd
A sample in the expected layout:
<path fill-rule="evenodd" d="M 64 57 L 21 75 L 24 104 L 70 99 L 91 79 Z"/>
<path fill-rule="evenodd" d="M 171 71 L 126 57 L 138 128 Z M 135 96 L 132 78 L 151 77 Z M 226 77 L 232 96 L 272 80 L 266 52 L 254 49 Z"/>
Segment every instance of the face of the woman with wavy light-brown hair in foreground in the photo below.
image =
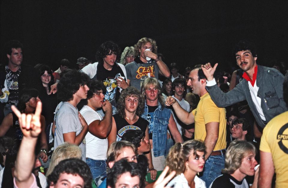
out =
<path fill-rule="evenodd" d="M 205 155 L 204 151 L 196 151 L 196 156 L 194 155 L 194 150 L 190 151 L 190 156 L 188 161 L 185 162 L 187 168 L 187 173 L 193 172 L 202 172 L 205 165 Z"/>

